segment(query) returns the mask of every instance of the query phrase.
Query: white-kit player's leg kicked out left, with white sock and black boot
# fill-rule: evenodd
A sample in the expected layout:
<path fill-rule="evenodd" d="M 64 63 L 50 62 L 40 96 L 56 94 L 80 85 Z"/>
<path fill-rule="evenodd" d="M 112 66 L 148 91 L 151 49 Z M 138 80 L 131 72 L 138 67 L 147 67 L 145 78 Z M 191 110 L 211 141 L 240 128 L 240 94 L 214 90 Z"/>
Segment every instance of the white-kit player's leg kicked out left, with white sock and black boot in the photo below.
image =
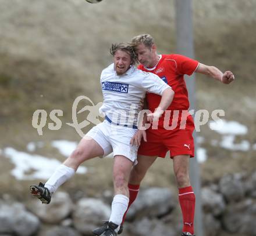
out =
<path fill-rule="evenodd" d="M 40 199 L 43 204 L 49 204 L 51 202 L 51 195 L 55 193 L 61 184 L 74 175 L 81 163 L 103 154 L 102 147 L 95 140 L 90 137 L 84 137 L 81 139 L 76 150 L 55 170 L 47 183 L 30 186 L 30 193 Z"/>

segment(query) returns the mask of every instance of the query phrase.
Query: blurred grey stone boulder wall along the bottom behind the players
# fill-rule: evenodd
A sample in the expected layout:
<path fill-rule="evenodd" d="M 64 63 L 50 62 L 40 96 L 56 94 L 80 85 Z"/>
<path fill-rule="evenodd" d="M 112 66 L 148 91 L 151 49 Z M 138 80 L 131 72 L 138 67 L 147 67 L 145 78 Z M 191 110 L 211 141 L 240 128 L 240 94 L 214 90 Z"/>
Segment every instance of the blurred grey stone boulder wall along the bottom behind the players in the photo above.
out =
<path fill-rule="evenodd" d="M 223 176 L 201 191 L 205 235 L 255 236 L 256 172 Z M 26 206 L 0 201 L 0 235 L 90 236 L 91 230 L 108 220 L 112 194 L 102 198 L 81 198 L 73 202 L 69 194 L 57 192 L 49 205 L 31 199 Z M 140 190 L 127 213 L 123 235 L 179 235 L 182 230 L 177 195 L 169 188 Z"/>

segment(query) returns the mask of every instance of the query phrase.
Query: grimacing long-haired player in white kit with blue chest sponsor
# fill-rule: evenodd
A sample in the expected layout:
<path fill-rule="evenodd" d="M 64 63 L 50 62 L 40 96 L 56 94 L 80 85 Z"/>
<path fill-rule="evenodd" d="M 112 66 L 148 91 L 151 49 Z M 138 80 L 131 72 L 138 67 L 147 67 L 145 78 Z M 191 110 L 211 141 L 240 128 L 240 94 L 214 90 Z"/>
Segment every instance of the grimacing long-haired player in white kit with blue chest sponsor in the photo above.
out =
<path fill-rule="evenodd" d="M 42 203 L 49 204 L 52 194 L 65 181 L 70 179 L 80 164 L 88 159 L 105 156 L 113 152 L 113 185 L 115 196 L 112 212 L 102 236 L 115 236 L 129 203 L 127 183 L 131 168 L 136 164 L 137 149 L 130 140 L 137 132 L 138 113 L 143 108 L 146 92 L 162 96 L 162 100 L 148 121 L 161 116 L 172 102 L 174 92 L 157 75 L 138 70 L 134 64 L 136 56 L 129 43 L 112 45 L 113 64 L 101 73 L 101 86 L 104 97 L 100 111 L 105 120 L 94 126 L 76 150 L 59 166 L 49 180 L 38 186 L 30 186 L 30 192 Z"/>

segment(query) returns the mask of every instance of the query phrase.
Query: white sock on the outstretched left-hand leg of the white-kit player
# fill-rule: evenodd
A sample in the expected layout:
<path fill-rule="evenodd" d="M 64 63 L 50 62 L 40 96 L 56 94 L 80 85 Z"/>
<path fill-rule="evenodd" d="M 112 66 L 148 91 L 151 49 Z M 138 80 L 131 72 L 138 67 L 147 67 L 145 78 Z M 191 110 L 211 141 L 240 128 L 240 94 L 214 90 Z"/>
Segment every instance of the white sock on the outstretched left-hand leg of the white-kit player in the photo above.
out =
<path fill-rule="evenodd" d="M 74 173 L 75 171 L 73 168 L 67 167 L 65 165 L 60 165 L 45 183 L 44 187 L 48 188 L 52 195 L 55 193 L 57 188 L 65 183 L 65 181 L 70 179 L 70 177 L 72 177 Z"/>

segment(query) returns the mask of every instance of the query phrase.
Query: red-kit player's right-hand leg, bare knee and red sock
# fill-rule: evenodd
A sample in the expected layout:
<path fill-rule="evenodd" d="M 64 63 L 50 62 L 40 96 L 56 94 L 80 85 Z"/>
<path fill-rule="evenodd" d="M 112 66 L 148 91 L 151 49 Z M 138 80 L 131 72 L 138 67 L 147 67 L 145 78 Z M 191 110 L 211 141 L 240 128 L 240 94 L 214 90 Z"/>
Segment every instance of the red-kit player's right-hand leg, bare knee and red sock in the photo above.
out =
<path fill-rule="evenodd" d="M 173 169 L 179 188 L 179 202 L 183 215 L 183 234 L 194 234 L 195 195 L 190 184 L 189 155 L 173 157 Z"/>

